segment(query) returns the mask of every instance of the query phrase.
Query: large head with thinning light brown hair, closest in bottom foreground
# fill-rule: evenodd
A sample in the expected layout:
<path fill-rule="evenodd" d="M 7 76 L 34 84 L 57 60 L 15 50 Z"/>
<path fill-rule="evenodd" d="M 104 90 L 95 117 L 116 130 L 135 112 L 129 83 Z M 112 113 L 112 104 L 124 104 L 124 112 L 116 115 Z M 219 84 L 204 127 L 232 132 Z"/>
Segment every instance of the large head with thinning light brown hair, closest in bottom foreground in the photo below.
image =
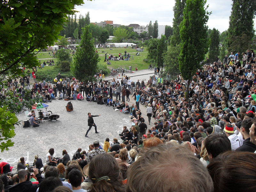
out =
<path fill-rule="evenodd" d="M 157 175 L 154 182 L 150 182 L 152 175 Z M 186 185 L 182 179 L 185 175 Z M 141 191 L 209 192 L 213 191 L 213 183 L 206 168 L 186 146 L 163 144 L 150 148 L 127 171 L 126 192 Z"/>

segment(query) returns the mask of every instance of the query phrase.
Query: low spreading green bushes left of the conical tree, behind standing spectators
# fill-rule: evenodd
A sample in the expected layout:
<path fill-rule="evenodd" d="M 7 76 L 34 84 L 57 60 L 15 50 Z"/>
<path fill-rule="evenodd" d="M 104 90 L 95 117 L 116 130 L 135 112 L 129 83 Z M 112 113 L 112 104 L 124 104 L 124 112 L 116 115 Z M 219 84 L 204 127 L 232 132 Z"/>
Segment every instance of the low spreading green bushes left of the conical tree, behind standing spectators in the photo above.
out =
<path fill-rule="evenodd" d="M 57 66 L 52 66 L 52 68 L 49 68 L 45 71 L 37 71 L 36 72 L 36 79 L 41 81 L 42 79 L 45 79 L 49 76 L 50 81 L 52 82 L 53 79 L 58 75 L 58 73 L 60 72 L 60 68 L 58 68 Z M 68 77 L 68 78 L 72 78 L 73 75 L 71 74 L 71 72 L 63 72 L 60 73 L 60 75 L 62 77 Z"/>

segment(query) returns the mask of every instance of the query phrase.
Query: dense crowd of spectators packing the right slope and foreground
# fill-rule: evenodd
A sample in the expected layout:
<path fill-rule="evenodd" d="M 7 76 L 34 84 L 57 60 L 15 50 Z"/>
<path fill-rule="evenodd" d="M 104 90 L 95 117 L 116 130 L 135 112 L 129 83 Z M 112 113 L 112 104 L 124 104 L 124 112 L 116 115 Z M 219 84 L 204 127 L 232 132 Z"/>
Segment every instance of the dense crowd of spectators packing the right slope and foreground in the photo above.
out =
<path fill-rule="evenodd" d="M 0 190 L 256 191 L 255 58 L 247 50 L 240 62 L 239 54 L 203 66 L 189 84 L 180 75 L 172 80 L 168 73 L 164 78 L 153 76 L 144 86 L 138 81 L 130 87 L 126 77 L 121 84 L 116 79 L 103 81 L 99 95 L 108 96 L 104 88 L 109 86 L 116 100 L 117 90 L 135 87 L 133 124 L 123 127 L 122 142 L 106 138 L 100 146 L 96 139 L 89 151 L 78 148 L 72 160 L 65 149 L 58 158 L 51 148 L 46 165 L 35 156 L 32 169 L 21 157 L 15 175 L 10 165 L 1 163 Z M 95 86 L 90 86 L 85 92 L 92 96 Z M 74 91 L 79 92 L 79 86 Z M 147 111 L 149 125 L 152 116 L 153 126 L 148 127 L 141 110 Z"/>

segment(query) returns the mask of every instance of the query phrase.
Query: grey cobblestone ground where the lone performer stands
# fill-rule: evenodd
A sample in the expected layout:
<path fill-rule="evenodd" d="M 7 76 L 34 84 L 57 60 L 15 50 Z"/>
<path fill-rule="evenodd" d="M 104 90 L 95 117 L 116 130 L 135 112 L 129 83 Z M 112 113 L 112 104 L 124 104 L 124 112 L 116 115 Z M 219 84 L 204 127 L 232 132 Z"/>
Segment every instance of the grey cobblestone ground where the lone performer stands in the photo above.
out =
<path fill-rule="evenodd" d="M 149 76 L 151 75 L 141 75 L 131 79 L 132 81 L 144 78 L 148 80 Z M 129 105 L 135 103 L 131 96 L 130 99 Z M 132 124 L 129 115 L 115 111 L 112 107 L 98 105 L 93 102 L 90 103 L 86 100 L 71 102 L 74 107 L 72 112 L 66 111 L 65 106 L 68 101 L 53 100 L 51 103 L 47 103 L 49 105 L 47 110 L 52 111 L 53 114 L 60 115 L 56 122 L 45 120 L 39 124 L 39 127 L 23 128 L 22 125 L 15 126 L 16 136 L 12 139 L 15 144 L 8 151 L 0 154 L 1 161 L 8 162 L 16 169 L 20 157 L 24 156 L 25 161 L 32 164 L 34 156 L 37 154 L 42 158 L 43 164 L 45 164 L 46 154 L 50 148 L 54 148 L 55 157 L 62 157 L 62 150 L 66 149 L 70 158 L 72 158 L 77 148 L 87 151 L 89 145 L 95 139 L 100 141 L 102 147 L 107 137 L 110 139 L 110 142 L 113 141 L 113 138 L 121 140 L 119 133 L 122 132 L 122 127 L 124 125 L 130 127 Z M 142 108 L 141 111 L 142 116 L 146 116 L 146 108 Z M 89 138 L 85 138 L 84 135 L 88 129 L 88 112 L 92 115 L 101 114 L 101 116 L 93 118 L 97 125 L 97 131 L 100 133 L 96 134 L 94 127 L 92 127 L 88 133 Z M 37 110 L 36 116 L 38 116 Z M 24 113 L 17 114 L 17 117 L 20 121 L 28 120 Z"/>

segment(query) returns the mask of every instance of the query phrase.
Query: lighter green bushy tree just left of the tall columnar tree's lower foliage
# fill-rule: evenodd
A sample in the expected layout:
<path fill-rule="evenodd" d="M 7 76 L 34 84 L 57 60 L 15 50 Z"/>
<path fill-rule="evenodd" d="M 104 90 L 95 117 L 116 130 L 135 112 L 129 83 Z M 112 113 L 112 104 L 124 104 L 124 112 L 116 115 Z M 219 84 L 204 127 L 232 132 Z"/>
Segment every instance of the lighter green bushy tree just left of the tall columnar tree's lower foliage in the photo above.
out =
<path fill-rule="evenodd" d="M 170 46 L 167 52 L 164 52 L 164 71 L 168 72 L 172 79 L 175 79 L 179 75 L 179 60 L 178 56 L 180 54 L 180 44 L 175 46 Z"/>

